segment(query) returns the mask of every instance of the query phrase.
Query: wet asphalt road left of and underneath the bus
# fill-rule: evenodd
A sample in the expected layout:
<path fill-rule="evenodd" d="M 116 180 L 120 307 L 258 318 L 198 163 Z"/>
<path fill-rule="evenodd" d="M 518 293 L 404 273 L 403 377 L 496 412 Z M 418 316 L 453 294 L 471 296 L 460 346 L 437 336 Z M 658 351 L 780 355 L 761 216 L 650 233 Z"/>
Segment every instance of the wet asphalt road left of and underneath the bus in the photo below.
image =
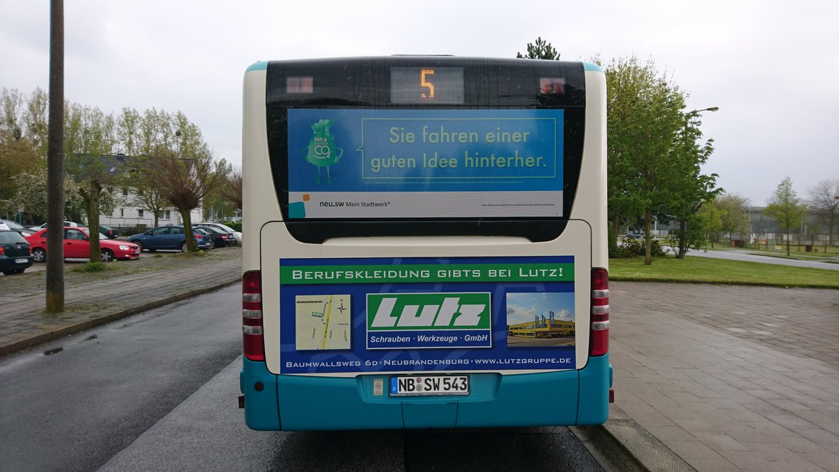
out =
<path fill-rule="evenodd" d="M 236 401 L 239 290 L 0 359 L 0 469 L 602 469 L 566 427 L 252 431 Z"/>

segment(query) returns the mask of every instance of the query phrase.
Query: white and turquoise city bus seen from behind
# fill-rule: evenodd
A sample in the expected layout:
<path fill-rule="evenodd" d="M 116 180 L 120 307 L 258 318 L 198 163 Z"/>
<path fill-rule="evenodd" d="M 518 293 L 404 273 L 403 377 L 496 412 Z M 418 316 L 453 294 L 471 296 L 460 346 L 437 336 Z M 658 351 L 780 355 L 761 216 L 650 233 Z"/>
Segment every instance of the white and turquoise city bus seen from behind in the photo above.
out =
<path fill-rule="evenodd" d="M 605 100 L 605 76 L 586 62 L 250 66 L 248 427 L 605 422 Z M 545 312 L 573 334 L 513 335 Z"/>

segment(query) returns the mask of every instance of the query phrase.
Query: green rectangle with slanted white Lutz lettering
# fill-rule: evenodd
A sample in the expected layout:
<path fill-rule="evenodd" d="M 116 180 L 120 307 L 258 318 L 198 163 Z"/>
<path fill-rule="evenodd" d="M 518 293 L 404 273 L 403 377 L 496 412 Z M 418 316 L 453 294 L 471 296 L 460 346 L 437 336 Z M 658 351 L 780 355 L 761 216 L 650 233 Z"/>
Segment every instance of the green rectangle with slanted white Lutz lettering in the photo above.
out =
<path fill-rule="evenodd" d="M 489 329 L 490 294 L 368 293 L 367 330 Z"/>

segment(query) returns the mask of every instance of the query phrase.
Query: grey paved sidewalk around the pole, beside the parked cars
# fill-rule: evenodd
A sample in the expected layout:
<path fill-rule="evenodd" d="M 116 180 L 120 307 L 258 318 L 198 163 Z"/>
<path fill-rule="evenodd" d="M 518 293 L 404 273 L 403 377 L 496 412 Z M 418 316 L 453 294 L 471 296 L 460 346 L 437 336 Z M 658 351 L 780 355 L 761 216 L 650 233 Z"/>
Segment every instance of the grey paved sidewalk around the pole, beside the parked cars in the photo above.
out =
<path fill-rule="evenodd" d="M 65 312 L 52 316 L 44 313 L 45 270 L 0 277 L 0 355 L 231 285 L 241 278 L 242 249 L 215 249 L 203 257 L 143 254 L 92 274 L 70 266 L 65 264 Z"/>

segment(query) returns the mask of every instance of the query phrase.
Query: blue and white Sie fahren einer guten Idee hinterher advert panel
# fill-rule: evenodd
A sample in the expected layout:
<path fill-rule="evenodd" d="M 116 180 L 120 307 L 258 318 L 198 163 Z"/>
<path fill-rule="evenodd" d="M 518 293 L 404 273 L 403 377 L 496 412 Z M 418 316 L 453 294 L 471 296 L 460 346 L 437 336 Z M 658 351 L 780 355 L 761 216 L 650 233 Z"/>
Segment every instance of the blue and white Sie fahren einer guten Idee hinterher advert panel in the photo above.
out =
<path fill-rule="evenodd" d="M 289 109 L 289 218 L 563 216 L 563 110 Z"/>

